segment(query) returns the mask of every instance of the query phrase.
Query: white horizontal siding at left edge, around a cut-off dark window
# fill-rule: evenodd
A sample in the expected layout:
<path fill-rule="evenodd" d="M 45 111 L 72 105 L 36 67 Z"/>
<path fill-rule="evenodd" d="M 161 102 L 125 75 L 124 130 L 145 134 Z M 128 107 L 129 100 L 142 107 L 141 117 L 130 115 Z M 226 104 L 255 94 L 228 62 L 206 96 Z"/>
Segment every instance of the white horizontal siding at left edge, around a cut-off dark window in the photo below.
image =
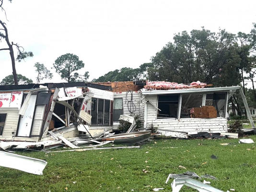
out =
<path fill-rule="evenodd" d="M 12 136 L 15 136 L 18 127 L 20 116 L 19 110 L 18 108 L 0 108 L 0 113 L 7 113 L 3 135 L 0 136 L 0 139 L 12 139 Z M 13 135 L 12 132 L 14 132 Z"/>

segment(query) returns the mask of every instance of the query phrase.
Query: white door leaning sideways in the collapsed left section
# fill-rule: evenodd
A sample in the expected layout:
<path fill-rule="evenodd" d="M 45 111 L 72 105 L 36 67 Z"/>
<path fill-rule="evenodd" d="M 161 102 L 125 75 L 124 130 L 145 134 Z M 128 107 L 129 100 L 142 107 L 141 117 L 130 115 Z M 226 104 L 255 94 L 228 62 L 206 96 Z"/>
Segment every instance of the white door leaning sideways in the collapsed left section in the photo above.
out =
<path fill-rule="evenodd" d="M 23 117 L 21 117 L 20 119 L 18 136 L 29 136 L 30 134 L 34 110 L 35 110 L 35 101 L 36 101 L 36 95 L 31 95 L 28 102 L 27 109 Z"/>

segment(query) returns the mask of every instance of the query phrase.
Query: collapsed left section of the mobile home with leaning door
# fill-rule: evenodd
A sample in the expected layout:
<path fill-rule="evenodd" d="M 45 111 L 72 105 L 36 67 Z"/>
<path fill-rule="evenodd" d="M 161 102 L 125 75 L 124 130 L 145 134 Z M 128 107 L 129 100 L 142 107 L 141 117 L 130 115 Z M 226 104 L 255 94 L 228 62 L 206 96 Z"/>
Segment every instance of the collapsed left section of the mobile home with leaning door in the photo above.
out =
<path fill-rule="evenodd" d="M 90 92 L 95 88 L 97 93 L 102 91 L 98 97 Z M 84 82 L 0 86 L 0 140 L 38 142 L 50 136 L 47 135 L 48 130 L 61 132 L 66 138 L 78 136 L 78 125 L 84 125 L 84 122 L 90 125 L 92 118 L 90 114 L 83 113 L 91 110 L 91 106 L 90 110 L 86 106 L 86 98 L 91 96 L 85 96 L 85 92 L 90 92 L 96 99 L 111 93 L 112 97 L 106 102 L 103 100 L 105 109 L 102 116 L 98 115 L 99 121 L 105 120 L 105 124 L 110 125 L 113 94 L 106 91 L 109 89 Z M 97 132 L 97 127 L 95 130 L 92 134 Z M 91 135 L 90 132 L 88 134 Z"/>

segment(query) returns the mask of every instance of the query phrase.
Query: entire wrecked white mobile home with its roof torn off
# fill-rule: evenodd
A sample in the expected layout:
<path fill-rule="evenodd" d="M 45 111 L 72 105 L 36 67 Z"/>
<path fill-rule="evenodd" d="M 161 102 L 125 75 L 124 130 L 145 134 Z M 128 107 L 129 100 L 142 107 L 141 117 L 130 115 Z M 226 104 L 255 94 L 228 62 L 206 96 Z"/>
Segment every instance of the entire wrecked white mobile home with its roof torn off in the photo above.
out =
<path fill-rule="evenodd" d="M 37 142 L 37 146 L 49 147 L 64 142 L 71 146 L 74 137 L 96 139 L 112 132 L 120 115 L 137 116 L 141 122 L 137 128 L 154 127 L 164 136 L 187 138 L 199 132 L 227 132 L 228 99 L 240 87 L 208 88 L 204 83 L 193 83 L 128 81 L 0 86 L 0 140 Z M 245 99 L 244 105 L 247 106 Z M 134 131 L 134 119 L 125 119 L 132 124 L 128 133 Z M 122 139 L 135 136 L 128 133 L 124 137 L 105 138 L 118 138 L 122 143 Z M 139 136 L 142 140 L 150 137 L 148 133 Z M 12 144 L 5 144 L 5 148 L 9 145 Z"/>

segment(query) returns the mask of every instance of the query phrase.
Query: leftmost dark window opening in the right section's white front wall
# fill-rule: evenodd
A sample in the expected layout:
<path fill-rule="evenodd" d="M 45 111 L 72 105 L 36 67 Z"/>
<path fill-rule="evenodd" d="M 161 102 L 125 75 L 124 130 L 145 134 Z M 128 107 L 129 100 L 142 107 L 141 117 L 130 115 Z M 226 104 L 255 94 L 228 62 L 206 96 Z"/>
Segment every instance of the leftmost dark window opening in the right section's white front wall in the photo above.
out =
<path fill-rule="evenodd" d="M 179 94 L 159 95 L 157 118 L 177 118 Z"/>

